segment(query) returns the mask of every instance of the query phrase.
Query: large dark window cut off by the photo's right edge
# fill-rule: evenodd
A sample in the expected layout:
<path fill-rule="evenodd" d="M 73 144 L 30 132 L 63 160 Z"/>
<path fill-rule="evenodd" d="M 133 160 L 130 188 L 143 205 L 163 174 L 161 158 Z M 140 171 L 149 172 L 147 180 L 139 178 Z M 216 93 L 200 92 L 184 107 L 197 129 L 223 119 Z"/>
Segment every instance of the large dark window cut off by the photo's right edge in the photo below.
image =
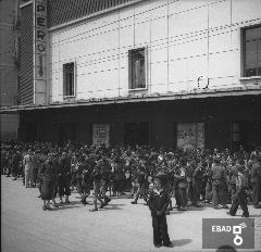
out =
<path fill-rule="evenodd" d="M 244 77 L 261 76 L 261 25 L 243 29 Z"/>

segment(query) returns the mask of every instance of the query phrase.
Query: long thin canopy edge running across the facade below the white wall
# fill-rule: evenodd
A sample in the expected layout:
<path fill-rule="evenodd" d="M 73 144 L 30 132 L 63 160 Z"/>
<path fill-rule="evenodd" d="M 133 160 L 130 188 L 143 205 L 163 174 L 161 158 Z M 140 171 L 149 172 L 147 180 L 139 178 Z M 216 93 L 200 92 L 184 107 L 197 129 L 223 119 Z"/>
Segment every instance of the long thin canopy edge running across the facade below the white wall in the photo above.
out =
<path fill-rule="evenodd" d="M 58 102 L 47 105 L 16 105 L 16 106 L 2 106 L 0 114 L 17 113 L 22 111 L 37 111 L 48 109 L 66 109 L 77 106 L 90 105 L 105 105 L 105 104 L 121 104 L 121 103 L 138 103 L 138 102 L 157 102 L 157 101 L 176 101 L 189 99 L 204 99 L 204 98 L 220 98 L 220 97 L 237 97 L 237 96 L 260 96 L 261 86 L 238 87 L 226 89 L 208 89 L 208 90 L 192 90 L 189 92 L 169 92 L 165 94 L 137 94 L 129 97 L 90 99 L 90 100 L 76 100 L 71 102 Z"/>

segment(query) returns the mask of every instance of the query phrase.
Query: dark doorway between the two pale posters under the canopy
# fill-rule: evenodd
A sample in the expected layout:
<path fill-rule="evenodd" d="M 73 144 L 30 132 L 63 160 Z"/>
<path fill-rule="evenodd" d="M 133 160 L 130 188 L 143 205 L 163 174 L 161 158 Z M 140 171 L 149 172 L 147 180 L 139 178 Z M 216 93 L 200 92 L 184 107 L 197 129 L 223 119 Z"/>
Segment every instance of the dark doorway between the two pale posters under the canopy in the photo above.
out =
<path fill-rule="evenodd" d="M 136 122 L 125 124 L 124 142 L 128 146 L 149 144 L 149 122 Z"/>

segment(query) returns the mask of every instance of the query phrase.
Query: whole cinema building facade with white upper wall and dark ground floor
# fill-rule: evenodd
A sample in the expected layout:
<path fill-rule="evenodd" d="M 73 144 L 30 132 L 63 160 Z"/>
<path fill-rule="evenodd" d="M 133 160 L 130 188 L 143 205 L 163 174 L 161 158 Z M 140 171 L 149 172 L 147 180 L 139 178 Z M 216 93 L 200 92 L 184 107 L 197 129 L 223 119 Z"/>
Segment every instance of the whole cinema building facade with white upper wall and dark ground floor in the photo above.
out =
<path fill-rule="evenodd" d="M 261 146 L 259 0 L 62 2 L 20 7 L 21 140 Z"/>

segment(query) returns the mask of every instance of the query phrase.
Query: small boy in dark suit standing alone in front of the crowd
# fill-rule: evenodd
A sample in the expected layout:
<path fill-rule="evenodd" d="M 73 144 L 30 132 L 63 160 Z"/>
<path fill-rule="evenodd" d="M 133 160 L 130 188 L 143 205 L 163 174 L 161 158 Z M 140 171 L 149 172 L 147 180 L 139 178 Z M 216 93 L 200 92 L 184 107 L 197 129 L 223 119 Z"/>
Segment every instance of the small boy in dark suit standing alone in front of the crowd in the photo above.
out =
<path fill-rule="evenodd" d="M 163 189 L 161 179 L 159 177 L 154 177 L 153 190 L 150 192 L 148 205 L 152 217 L 153 244 L 157 248 L 160 248 L 162 244 L 164 247 L 173 247 L 167 234 L 165 214 L 169 203 L 170 194 Z"/>

